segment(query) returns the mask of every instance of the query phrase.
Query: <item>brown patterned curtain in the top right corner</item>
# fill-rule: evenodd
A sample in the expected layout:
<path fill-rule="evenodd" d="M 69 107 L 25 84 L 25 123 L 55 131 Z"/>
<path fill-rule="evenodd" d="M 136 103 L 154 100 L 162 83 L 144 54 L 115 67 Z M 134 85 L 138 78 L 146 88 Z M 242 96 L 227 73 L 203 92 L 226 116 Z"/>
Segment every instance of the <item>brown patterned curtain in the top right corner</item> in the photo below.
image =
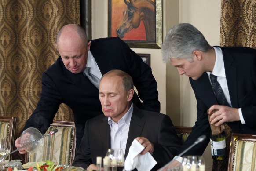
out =
<path fill-rule="evenodd" d="M 221 46 L 256 48 L 256 0 L 221 0 Z"/>

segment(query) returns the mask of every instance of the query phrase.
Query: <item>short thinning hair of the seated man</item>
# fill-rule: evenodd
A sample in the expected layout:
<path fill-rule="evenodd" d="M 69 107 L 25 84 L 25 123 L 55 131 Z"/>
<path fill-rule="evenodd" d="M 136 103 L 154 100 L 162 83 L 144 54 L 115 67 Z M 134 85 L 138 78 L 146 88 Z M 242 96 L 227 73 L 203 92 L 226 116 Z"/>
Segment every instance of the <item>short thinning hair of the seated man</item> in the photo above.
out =
<path fill-rule="evenodd" d="M 128 93 L 129 90 L 133 89 L 132 77 L 128 73 L 125 73 L 124 71 L 113 69 L 105 73 L 102 76 L 102 78 L 105 76 L 120 76 L 123 80 L 123 88 L 126 93 Z M 100 81 L 102 80 L 102 78 L 100 79 Z"/>

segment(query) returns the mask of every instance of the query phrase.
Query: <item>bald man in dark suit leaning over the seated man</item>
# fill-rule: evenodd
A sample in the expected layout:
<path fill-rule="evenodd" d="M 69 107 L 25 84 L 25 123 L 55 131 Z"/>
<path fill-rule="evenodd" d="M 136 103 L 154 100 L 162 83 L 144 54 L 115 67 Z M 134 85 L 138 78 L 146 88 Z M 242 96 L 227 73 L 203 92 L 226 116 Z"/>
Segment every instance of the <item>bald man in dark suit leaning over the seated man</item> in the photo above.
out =
<path fill-rule="evenodd" d="M 93 74 L 99 82 L 101 76 L 112 69 L 124 70 L 132 76 L 139 92 L 139 97 L 134 95 L 132 101 L 140 109 L 160 112 L 157 83 L 151 68 L 118 37 L 88 41 L 82 27 L 69 24 L 60 29 L 56 45 L 60 56 L 43 73 L 41 98 L 24 129 L 36 127 L 44 134 L 59 105 L 65 103 L 73 110 L 78 147 L 86 120 L 102 114 L 99 85 L 92 84 L 85 75 Z M 19 138 L 15 146 L 20 147 Z"/>

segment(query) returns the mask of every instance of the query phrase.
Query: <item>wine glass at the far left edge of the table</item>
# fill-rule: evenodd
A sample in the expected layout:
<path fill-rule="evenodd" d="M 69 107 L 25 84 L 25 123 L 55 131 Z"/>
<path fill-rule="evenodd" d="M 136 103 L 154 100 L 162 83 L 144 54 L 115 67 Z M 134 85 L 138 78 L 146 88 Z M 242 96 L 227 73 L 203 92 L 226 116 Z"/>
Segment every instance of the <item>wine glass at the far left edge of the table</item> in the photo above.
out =
<path fill-rule="evenodd" d="M 10 153 L 10 142 L 8 138 L 0 138 L 0 156 Z M 6 156 L 0 160 L 1 170 L 4 170 L 5 164 L 10 160 L 10 156 Z"/>

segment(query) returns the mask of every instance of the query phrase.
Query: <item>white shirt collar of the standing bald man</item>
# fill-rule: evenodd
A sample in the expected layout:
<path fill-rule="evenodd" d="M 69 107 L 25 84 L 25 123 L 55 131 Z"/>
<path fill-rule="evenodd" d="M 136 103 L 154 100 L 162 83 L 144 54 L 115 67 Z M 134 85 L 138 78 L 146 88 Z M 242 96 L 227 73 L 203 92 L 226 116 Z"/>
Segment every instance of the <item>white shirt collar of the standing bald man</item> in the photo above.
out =
<path fill-rule="evenodd" d="M 86 67 L 91 68 L 90 73 L 95 75 L 97 78 L 99 78 L 99 80 L 101 79 L 102 74 L 99 70 L 99 66 L 97 65 L 97 63 L 95 61 L 95 58 L 91 54 L 91 51 L 88 51 L 88 58 L 87 58 Z"/>

